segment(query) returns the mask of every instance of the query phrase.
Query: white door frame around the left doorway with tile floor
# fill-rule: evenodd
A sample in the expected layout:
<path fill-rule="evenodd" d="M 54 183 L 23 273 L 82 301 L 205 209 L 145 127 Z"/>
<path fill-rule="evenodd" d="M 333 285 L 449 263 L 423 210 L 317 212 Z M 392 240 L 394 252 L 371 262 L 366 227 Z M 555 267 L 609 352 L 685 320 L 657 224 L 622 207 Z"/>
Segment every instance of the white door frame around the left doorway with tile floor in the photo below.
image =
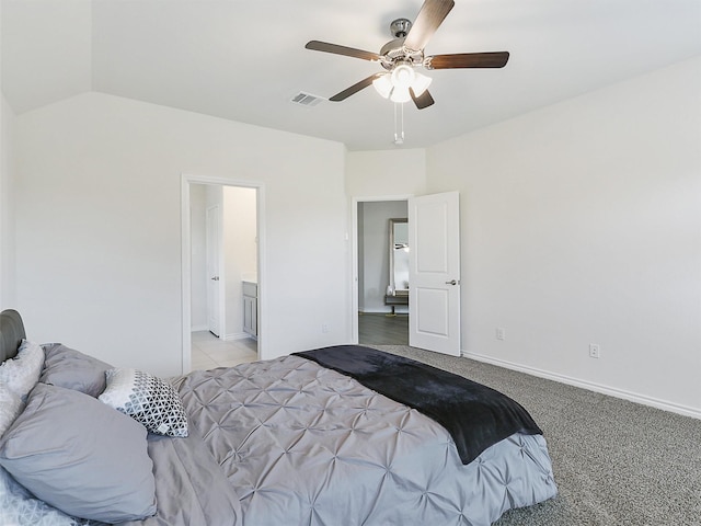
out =
<path fill-rule="evenodd" d="M 264 356 L 265 345 L 265 307 L 266 261 L 265 261 L 265 185 L 255 181 L 240 181 L 212 175 L 181 174 L 181 367 L 186 374 L 192 367 L 192 225 L 189 213 L 189 190 L 192 184 L 212 184 L 220 186 L 240 186 L 256 190 L 256 228 L 257 228 L 257 276 L 258 276 L 258 356 Z"/>

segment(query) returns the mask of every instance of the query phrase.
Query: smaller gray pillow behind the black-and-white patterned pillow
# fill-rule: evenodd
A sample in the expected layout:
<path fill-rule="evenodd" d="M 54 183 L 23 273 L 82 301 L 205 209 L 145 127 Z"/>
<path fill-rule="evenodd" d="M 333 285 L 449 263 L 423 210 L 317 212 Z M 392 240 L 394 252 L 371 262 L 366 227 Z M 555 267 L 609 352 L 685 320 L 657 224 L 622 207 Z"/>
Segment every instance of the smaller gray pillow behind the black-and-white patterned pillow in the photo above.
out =
<path fill-rule="evenodd" d="M 39 376 L 41 382 L 84 392 L 94 398 L 105 390 L 105 370 L 111 369 L 112 365 L 62 343 L 44 345 L 44 354 L 46 361 Z"/>

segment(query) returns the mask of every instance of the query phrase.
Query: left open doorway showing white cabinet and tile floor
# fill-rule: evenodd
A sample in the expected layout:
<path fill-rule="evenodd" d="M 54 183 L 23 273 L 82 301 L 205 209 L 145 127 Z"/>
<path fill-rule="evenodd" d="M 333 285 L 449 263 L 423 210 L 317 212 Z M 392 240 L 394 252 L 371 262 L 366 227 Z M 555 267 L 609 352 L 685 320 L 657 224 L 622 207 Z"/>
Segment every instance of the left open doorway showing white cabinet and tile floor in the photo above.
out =
<path fill-rule="evenodd" d="M 261 188 L 183 181 L 183 371 L 260 356 Z"/>

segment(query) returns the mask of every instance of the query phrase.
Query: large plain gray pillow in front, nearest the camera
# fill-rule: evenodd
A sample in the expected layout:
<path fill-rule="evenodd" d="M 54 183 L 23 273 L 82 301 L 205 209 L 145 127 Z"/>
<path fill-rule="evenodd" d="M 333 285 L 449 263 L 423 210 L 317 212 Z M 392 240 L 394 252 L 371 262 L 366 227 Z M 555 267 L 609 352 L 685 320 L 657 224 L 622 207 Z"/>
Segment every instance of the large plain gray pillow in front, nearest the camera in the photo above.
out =
<path fill-rule="evenodd" d="M 142 425 L 78 391 L 38 384 L 0 439 L 0 466 L 36 496 L 82 518 L 156 513 Z"/>

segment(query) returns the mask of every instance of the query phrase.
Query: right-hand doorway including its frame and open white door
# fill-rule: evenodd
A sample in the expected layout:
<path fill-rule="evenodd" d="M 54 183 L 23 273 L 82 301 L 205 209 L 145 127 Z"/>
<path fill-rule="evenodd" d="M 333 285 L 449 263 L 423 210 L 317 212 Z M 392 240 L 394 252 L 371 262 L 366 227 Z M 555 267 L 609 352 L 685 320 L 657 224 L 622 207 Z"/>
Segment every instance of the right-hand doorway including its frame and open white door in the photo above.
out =
<path fill-rule="evenodd" d="M 427 351 L 459 356 L 461 354 L 460 331 L 460 194 L 445 192 L 422 196 L 359 198 L 353 199 L 354 227 L 354 283 L 356 294 L 353 295 L 354 311 L 357 316 L 352 319 L 355 342 L 367 341 L 360 338 L 361 318 L 372 310 L 368 305 L 368 289 L 375 297 L 375 308 L 378 300 L 386 297 L 382 294 L 384 284 L 376 282 L 368 285 L 369 274 L 377 273 L 377 263 L 368 263 L 365 253 L 368 250 L 368 239 L 387 237 L 381 242 L 389 244 L 389 229 L 368 229 L 367 208 L 374 209 L 372 203 L 380 210 L 395 202 L 407 205 L 409 231 L 409 345 Z M 377 211 L 377 210 L 375 210 Z M 387 213 L 389 221 L 397 216 L 397 211 Z M 397 216 L 399 217 L 399 216 Z M 381 249 L 380 249 L 381 250 Z M 389 250 L 389 248 L 388 248 Z M 384 276 L 389 276 L 389 256 Z M 382 272 L 382 271 L 380 271 Z M 371 274 L 378 275 L 378 274 Z M 370 276 L 371 276 L 370 275 Z M 371 277 L 370 277 L 371 279 Z M 387 308 L 387 304 L 384 305 Z M 368 342 L 370 343 L 370 342 Z M 382 342 L 381 344 L 392 344 Z"/>

